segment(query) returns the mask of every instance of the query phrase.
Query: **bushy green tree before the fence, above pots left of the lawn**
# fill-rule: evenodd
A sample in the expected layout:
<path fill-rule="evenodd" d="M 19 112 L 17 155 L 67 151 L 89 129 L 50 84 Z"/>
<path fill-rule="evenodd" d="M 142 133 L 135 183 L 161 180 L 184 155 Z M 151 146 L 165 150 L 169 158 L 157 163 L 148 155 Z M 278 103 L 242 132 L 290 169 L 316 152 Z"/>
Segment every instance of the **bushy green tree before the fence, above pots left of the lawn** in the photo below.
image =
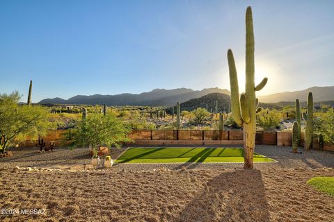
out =
<path fill-rule="evenodd" d="M 122 142 L 131 142 L 128 134 L 130 128 L 122 119 L 113 113 L 105 116 L 90 114 L 81 119 L 77 126 L 70 132 L 72 148 L 78 146 L 116 146 L 120 147 Z"/>

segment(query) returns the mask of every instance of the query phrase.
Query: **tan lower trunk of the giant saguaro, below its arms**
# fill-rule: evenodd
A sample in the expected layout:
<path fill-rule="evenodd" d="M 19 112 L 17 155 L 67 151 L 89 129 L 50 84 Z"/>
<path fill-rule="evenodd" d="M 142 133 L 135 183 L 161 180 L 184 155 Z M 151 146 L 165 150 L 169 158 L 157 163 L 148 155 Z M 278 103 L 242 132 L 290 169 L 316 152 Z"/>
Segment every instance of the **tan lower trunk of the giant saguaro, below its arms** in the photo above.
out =
<path fill-rule="evenodd" d="M 244 169 L 253 169 L 253 156 L 255 150 L 254 124 L 244 123 Z"/>

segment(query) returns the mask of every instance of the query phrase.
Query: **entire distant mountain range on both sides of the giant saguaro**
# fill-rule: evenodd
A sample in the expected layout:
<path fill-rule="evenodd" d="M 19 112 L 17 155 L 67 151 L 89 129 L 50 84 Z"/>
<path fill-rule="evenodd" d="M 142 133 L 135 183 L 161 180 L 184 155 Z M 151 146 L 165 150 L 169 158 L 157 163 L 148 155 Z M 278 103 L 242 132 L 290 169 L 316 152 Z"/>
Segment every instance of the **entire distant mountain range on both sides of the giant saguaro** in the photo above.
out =
<path fill-rule="evenodd" d="M 282 101 L 295 101 L 297 98 L 303 102 L 307 100 L 308 92 L 313 93 L 315 102 L 334 100 L 334 86 L 330 87 L 310 87 L 308 89 L 295 92 L 280 92 L 266 96 L 257 96 L 262 103 L 279 103 Z M 91 96 L 78 95 L 70 99 L 43 99 L 40 104 L 85 104 L 85 105 L 150 105 L 150 106 L 173 106 L 177 101 L 184 103 L 191 99 L 197 99 L 207 94 L 221 93 L 230 95 L 228 89 L 208 88 L 193 90 L 186 88 L 179 89 L 153 89 L 151 92 L 141 94 L 116 94 Z"/>

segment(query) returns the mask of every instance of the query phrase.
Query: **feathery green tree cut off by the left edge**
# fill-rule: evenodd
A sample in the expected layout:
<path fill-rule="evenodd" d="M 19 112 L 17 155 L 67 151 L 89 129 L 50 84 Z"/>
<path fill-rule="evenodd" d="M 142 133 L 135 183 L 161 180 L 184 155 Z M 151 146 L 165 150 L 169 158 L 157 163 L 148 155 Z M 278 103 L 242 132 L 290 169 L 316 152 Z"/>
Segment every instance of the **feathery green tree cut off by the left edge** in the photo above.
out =
<path fill-rule="evenodd" d="M 18 105 L 21 96 L 0 94 L 0 152 L 5 153 L 8 146 L 26 137 L 45 135 L 50 128 L 49 112 L 38 105 Z"/>

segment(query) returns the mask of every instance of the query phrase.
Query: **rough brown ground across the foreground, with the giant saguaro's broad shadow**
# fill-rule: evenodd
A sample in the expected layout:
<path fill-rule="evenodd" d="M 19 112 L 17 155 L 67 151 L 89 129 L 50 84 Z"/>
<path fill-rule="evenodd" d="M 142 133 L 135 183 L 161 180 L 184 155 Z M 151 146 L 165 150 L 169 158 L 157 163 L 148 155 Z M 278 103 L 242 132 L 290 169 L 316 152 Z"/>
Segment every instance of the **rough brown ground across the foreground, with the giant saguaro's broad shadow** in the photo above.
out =
<path fill-rule="evenodd" d="M 334 169 L 0 171 L 0 221 L 334 221 Z M 1 211 L 2 212 L 2 211 Z M 3 212 L 2 212 L 3 213 Z"/>

